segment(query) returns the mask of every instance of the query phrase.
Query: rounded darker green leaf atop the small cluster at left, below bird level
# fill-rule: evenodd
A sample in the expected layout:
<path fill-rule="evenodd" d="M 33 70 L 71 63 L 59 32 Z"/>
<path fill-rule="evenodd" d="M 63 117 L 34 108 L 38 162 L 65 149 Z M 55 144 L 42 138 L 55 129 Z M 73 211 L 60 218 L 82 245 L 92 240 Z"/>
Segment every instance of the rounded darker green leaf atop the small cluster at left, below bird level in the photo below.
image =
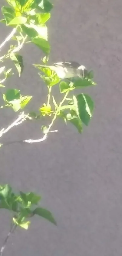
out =
<path fill-rule="evenodd" d="M 3 95 L 3 100 L 6 100 L 8 102 L 16 99 L 20 99 L 20 91 L 18 91 L 17 89 L 8 89 Z"/>

